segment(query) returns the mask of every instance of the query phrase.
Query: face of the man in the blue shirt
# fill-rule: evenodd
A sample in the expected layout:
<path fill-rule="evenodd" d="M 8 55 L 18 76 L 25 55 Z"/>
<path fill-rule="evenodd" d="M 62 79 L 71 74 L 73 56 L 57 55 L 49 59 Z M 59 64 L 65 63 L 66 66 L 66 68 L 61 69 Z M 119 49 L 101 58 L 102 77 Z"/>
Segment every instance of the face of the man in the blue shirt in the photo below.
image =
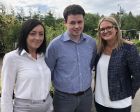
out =
<path fill-rule="evenodd" d="M 69 15 L 65 26 L 72 38 L 79 38 L 84 29 L 84 17 L 81 14 Z"/>

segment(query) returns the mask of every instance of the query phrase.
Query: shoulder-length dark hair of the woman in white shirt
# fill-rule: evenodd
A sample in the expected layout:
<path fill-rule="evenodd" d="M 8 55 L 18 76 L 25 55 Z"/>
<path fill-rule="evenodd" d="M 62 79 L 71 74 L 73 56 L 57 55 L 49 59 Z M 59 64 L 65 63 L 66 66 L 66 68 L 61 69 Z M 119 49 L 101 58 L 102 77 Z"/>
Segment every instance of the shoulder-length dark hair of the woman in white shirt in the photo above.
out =
<path fill-rule="evenodd" d="M 30 31 L 32 31 L 32 29 L 35 28 L 37 25 L 41 25 L 44 29 L 44 40 L 43 40 L 43 43 L 41 44 L 41 46 L 37 49 L 37 53 L 45 53 L 45 51 L 46 51 L 45 27 L 39 20 L 29 19 L 22 24 L 22 27 L 20 30 L 18 44 L 17 44 L 19 54 L 21 53 L 21 51 L 23 49 L 25 49 L 28 52 L 27 37 L 28 37 Z"/>

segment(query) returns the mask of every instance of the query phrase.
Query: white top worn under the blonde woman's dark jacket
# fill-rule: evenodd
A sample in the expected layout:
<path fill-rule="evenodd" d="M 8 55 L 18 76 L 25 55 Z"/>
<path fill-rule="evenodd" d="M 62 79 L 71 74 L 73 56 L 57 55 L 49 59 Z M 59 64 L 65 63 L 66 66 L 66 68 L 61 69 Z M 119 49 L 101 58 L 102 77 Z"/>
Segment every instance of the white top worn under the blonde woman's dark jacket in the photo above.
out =
<path fill-rule="evenodd" d="M 131 97 L 111 101 L 108 89 L 108 65 L 110 56 L 102 54 L 97 64 L 96 87 L 95 87 L 95 101 L 102 106 L 110 108 L 126 108 L 132 104 Z"/>

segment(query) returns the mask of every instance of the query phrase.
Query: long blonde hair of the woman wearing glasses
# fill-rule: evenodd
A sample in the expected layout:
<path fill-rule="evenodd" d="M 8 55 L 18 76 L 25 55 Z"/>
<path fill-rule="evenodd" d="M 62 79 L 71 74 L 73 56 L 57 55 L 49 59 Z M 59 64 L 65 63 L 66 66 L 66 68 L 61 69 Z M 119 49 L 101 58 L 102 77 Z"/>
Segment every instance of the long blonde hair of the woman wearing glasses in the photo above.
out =
<path fill-rule="evenodd" d="M 123 42 L 124 40 L 122 39 L 122 33 L 121 33 L 121 30 L 119 28 L 119 25 L 117 23 L 117 21 L 115 20 L 115 18 L 109 16 L 109 17 L 103 17 L 99 20 L 99 24 L 98 24 L 98 33 L 97 33 L 97 53 L 101 53 L 103 52 L 103 50 L 105 49 L 106 47 L 106 41 L 103 40 L 101 37 L 100 37 L 100 32 L 99 32 L 99 29 L 100 29 L 100 24 L 103 22 L 103 21 L 108 21 L 110 23 L 112 23 L 112 25 L 115 27 L 115 29 L 117 29 L 117 32 L 116 32 L 116 44 L 115 44 L 115 48 L 119 48 L 120 46 L 123 45 Z"/>

